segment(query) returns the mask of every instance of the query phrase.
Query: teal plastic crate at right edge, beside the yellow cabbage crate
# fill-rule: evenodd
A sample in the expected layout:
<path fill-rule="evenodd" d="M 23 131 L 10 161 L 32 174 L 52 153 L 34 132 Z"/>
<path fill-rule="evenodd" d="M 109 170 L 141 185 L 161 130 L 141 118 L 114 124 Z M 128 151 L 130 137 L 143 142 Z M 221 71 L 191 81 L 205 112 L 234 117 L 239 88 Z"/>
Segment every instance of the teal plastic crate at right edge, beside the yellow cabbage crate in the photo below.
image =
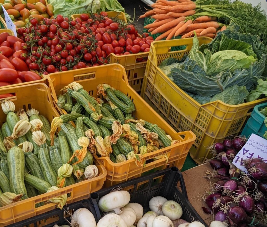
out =
<path fill-rule="evenodd" d="M 254 107 L 249 120 L 247 121 L 241 135 L 248 138 L 252 133 L 264 138 L 264 133 L 267 128 L 264 123 L 265 116 L 260 113 L 260 110 L 267 106 L 267 102 Z"/>

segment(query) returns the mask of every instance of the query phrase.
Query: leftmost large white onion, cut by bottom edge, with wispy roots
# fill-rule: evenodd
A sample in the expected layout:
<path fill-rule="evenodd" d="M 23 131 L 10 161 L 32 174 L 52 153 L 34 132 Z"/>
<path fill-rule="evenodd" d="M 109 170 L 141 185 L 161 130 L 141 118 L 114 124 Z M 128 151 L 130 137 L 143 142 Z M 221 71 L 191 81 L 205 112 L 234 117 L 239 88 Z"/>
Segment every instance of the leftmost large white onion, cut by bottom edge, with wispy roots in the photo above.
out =
<path fill-rule="evenodd" d="M 96 227 L 96 221 L 93 214 L 86 208 L 75 210 L 71 217 L 71 226 L 73 227 Z"/>

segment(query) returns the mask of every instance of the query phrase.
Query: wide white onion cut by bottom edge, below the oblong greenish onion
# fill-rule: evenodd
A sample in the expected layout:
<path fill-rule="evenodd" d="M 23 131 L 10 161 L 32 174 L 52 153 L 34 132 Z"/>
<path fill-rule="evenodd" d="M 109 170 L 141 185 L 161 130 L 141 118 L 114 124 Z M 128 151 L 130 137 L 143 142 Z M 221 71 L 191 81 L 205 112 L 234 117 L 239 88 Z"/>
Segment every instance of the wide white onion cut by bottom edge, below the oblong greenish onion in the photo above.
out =
<path fill-rule="evenodd" d="M 107 214 L 99 220 L 96 227 L 126 227 L 126 226 L 127 225 L 125 221 L 119 215 Z"/>

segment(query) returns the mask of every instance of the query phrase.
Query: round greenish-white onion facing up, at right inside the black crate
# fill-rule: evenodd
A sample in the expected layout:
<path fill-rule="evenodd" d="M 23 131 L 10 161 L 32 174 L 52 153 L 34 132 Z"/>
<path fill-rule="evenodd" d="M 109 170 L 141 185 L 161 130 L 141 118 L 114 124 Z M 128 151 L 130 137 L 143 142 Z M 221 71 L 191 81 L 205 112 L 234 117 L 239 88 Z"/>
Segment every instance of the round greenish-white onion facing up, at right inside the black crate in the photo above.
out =
<path fill-rule="evenodd" d="M 168 200 L 162 205 L 162 212 L 171 220 L 175 220 L 182 217 L 183 209 L 178 202 Z"/>

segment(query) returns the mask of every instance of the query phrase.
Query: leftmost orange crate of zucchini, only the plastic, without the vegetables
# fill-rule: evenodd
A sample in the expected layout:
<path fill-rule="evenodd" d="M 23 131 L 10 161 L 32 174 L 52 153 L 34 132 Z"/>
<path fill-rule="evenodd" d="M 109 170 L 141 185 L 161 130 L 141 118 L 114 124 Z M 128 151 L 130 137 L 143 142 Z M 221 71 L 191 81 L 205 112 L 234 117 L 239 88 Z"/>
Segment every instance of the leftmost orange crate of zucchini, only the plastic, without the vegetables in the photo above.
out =
<path fill-rule="evenodd" d="M 0 94 L 15 93 L 16 96 L 9 98 L 14 102 L 18 111 L 20 108 L 35 108 L 41 115 L 44 115 L 49 122 L 59 114 L 51 105 L 52 97 L 48 87 L 44 83 L 32 85 L 22 85 L 11 88 L 0 88 Z M 6 114 L 0 110 L 1 125 L 6 121 Z M 0 227 L 13 224 L 18 221 L 34 217 L 55 209 L 55 203 L 48 203 L 44 206 L 35 208 L 35 204 L 49 200 L 58 195 L 68 194 L 67 203 L 76 202 L 84 198 L 89 198 L 90 193 L 101 189 L 107 176 L 107 171 L 103 166 L 98 165 L 99 175 L 96 178 L 82 181 L 73 185 L 66 186 L 54 192 L 44 193 L 39 196 L 28 198 L 7 206 L 0 207 Z"/>

